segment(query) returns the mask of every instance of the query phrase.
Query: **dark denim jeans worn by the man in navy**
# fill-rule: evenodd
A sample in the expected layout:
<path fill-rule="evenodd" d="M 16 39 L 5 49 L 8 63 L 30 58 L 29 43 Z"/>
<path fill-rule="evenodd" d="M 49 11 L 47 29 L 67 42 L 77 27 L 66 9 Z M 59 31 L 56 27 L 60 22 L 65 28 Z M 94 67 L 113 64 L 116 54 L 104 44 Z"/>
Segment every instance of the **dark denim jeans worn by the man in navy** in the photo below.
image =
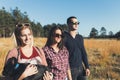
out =
<path fill-rule="evenodd" d="M 72 80 L 87 80 L 83 67 L 71 68 Z"/>

